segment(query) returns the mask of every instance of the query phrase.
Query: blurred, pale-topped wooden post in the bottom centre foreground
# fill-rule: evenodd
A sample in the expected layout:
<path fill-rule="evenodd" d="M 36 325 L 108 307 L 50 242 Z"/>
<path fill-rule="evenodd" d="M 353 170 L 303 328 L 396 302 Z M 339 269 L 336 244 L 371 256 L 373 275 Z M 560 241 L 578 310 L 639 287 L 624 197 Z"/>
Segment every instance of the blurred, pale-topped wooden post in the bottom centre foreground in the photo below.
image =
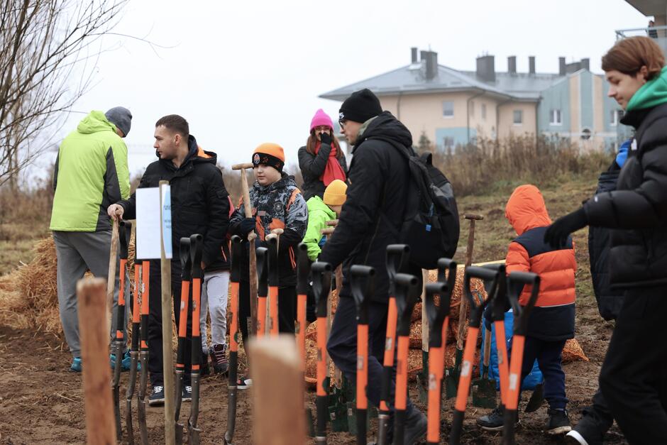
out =
<path fill-rule="evenodd" d="M 304 385 L 294 336 L 281 334 L 250 341 L 253 378 L 253 443 L 304 444 Z"/>

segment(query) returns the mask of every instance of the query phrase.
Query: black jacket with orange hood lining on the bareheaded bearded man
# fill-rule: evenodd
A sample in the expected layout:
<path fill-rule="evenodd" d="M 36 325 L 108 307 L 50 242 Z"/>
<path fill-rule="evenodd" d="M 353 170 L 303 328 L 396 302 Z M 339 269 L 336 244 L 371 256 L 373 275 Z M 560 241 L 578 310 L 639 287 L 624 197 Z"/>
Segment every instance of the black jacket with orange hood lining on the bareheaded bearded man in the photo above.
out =
<path fill-rule="evenodd" d="M 178 266 L 179 241 L 184 236 L 202 234 L 202 260 L 207 271 L 228 269 L 226 242 L 229 225 L 229 199 L 216 167 L 217 155 L 197 146 L 194 136 L 188 138 L 189 153 L 179 168 L 171 160 L 156 160 L 146 167 L 139 188 L 158 187 L 169 181 L 172 198 L 172 265 Z M 118 202 L 124 209 L 123 218 L 136 216 L 136 193 Z"/>

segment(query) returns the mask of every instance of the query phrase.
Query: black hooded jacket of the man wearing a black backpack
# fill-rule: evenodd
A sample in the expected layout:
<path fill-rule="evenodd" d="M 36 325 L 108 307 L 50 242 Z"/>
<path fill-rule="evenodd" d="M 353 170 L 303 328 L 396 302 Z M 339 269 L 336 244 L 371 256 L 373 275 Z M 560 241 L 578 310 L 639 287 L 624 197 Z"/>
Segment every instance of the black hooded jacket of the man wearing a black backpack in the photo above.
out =
<path fill-rule="evenodd" d="M 389 111 L 370 121 L 353 149 L 347 200 L 320 260 L 335 268 L 343 263 L 341 297 L 350 297 L 349 268 L 353 264 L 375 268 L 375 302 L 389 300 L 386 269 L 387 246 L 399 242 L 410 172 L 408 161 L 390 139 L 412 152 L 412 134 Z M 410 270 L 421 280 L 421 270 Z"/>

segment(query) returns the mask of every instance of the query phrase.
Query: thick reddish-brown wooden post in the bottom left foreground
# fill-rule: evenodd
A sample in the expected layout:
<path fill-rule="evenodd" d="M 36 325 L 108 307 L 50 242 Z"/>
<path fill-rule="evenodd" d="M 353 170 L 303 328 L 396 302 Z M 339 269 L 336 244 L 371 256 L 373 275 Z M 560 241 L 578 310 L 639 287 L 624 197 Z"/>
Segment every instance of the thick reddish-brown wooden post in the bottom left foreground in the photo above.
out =
<path fill-rule="evenodd" d="M 109 329 L 106 323 L 100 323 L 107 315 L 105 286 L 104 278 L 84 278 L 77 283 L 86 438 L 89 445 L 116 444 L 114 403 L 109 386 Z"/>

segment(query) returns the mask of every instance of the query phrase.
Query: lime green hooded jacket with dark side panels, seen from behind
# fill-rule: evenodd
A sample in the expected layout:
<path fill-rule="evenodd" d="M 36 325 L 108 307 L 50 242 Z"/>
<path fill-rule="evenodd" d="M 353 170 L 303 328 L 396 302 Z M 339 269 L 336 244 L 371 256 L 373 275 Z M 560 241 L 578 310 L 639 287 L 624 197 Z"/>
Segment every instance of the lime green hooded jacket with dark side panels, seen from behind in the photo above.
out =
<path fill-rule="evenodd" d="M 130 196 L 128 148 L 101 111 L 63 139 L 53 173 L 51 230 L 108 231 L 106 208 Z"/>

